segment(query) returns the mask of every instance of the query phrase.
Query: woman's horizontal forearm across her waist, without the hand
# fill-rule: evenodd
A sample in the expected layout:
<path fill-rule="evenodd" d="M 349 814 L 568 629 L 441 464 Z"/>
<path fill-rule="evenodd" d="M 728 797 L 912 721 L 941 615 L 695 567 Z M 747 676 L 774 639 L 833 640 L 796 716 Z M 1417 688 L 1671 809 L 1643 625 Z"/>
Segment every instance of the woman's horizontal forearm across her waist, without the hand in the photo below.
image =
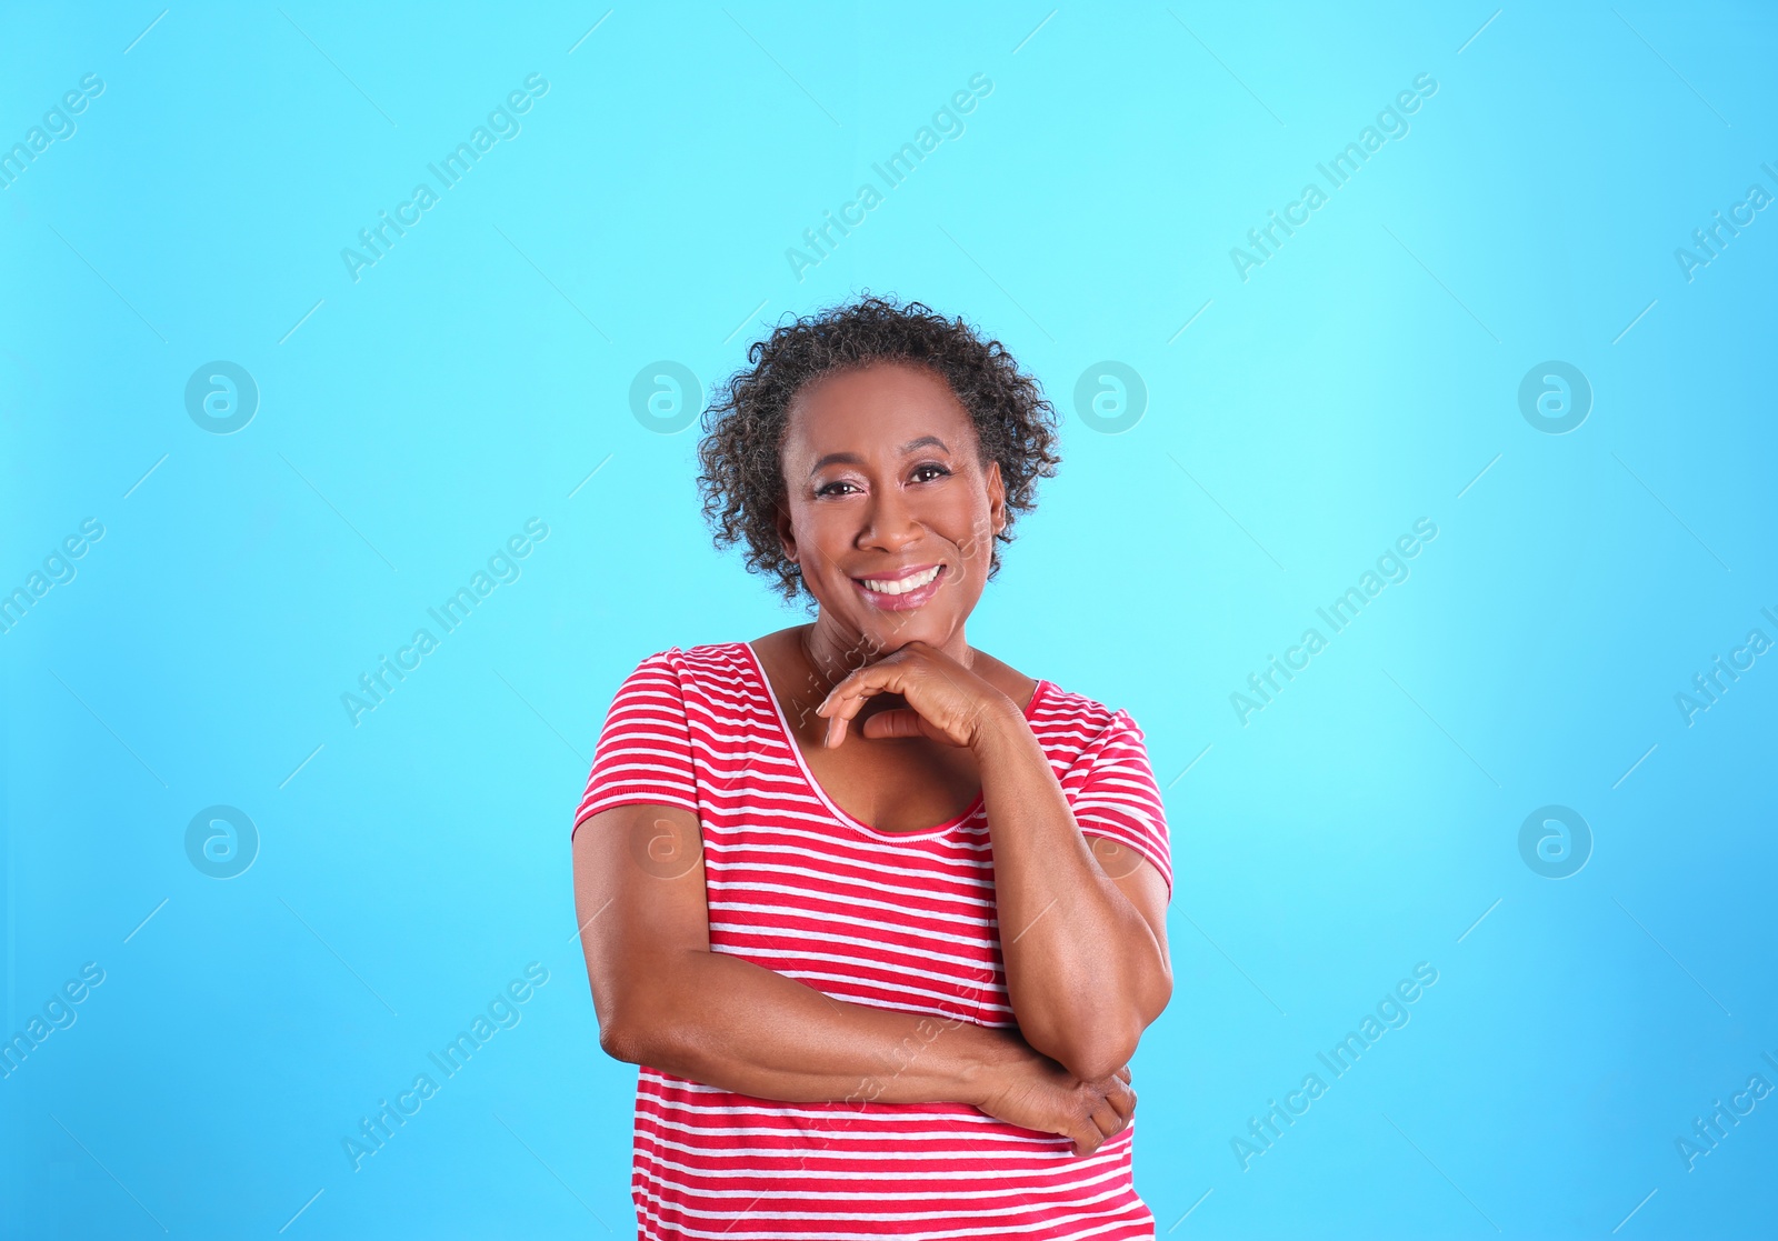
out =
<path fill-rule="evenodd" d="M 980 1106 L 1015 1037 L 832 999 L 725 953 L 661 960 L 603 1042 L 619 1060 L 786 1102 Z"/>

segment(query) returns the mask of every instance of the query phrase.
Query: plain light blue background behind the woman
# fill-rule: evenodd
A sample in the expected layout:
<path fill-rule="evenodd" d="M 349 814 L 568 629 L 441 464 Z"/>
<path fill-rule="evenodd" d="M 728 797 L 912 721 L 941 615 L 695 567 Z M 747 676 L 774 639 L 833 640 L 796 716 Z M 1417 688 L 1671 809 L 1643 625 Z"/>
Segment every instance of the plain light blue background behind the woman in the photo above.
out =
<path fill-rule="evenodd" d="M 573 809 L 637 660 L 802 619 L 709 548 L 697 432 L 629 384 L 708 386 L 861 288 L 967 315 L 1063 414 L 969 635 L 1127 708 L 1166 789 L 1163 1236 L 1773 1229 L 1778 1097 L 1675 1150 L 1778 1083 L 1778 656 L 1675 706 L 1778 638 L 1778 212 L 1691 281 L 1673 254 L 1778 194 L 1769 9 L 156 11 L 0 18 L 0 142 L 105 82 L 0 190 L 0 587 L 105 526 L 0 635 L 5 1033 L 105 971 L 0 1081 L 9 1236 L 629 1234 Z M 530 73 L 523 132 L 354 283 L 341 247 Z M 786 247 L 974 73 L 967 132 L 798 281 Z M 1421 73 L 1412 132 L 1243 281 L 1230 247 Z M 185 407 L 213 359 L 260 388 L 231 436 Z M 1125 434 L 1074 407 L 1102 359 L 1149 389 Z M 1565 436 L 1518 407 L 1549 359 L 1593 389 Z M 530 517 L 523 576 L 354 725 Z M 1243 725 L 1419 517 L 1412 576 Z M 226 882 L 185 852 L 215 804 L 261 837 Z M 1518 852 L 1547 804 L 1593 832 L 1570 878 Z M 523 1021 L 354 1172 L 528 962 Z M 1243 1170 L 1415 962 L 1412 1022 Z"/>

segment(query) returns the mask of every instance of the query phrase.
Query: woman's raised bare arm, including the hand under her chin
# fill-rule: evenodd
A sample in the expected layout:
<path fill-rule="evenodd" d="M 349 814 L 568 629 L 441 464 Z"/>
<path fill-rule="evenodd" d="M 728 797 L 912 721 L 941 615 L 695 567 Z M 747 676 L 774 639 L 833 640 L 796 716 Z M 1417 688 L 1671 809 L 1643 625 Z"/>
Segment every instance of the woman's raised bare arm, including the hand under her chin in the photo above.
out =
<path fill-rule="evenodd" d="M 1019 704 L 944 653 L 914 642 L 845 677 L 818 708 L 827 745 L 875 693 L 909 709 L 868 718 L 866 736 L 925 734 L 976 756 L 1019 1033 L 1076 1077 L 1117 1072 L 1173 994 L 1166 880 L 1136 850 L 1083 834 Z"/>

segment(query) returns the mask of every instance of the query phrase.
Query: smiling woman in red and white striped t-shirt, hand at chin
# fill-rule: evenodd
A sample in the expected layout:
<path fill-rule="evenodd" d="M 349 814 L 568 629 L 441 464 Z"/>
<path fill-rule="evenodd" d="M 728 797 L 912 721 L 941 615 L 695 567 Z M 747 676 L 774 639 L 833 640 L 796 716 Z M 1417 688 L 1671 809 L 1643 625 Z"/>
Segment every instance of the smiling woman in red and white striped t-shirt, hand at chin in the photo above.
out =
<path fill-rule="evenodd" d="M 749 350 L 718 546 L 814 622 L 619 688 L 574 816 L 599 1044 L 642 1065 L 644 1237 L 1150 1237 L 1127 1061 L 1166 1006 L 1166 823 L 1124 711 L 976 651 L 1054 412 L 866 297 Z"/>

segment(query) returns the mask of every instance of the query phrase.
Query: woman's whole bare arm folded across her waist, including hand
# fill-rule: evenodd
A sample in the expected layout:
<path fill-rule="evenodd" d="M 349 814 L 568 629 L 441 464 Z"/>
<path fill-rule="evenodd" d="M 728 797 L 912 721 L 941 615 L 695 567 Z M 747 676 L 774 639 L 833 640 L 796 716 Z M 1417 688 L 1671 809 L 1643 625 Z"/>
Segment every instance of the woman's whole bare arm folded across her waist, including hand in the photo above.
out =
<path fill-rule="evenodd" d="M 1127 1070 L 1069 1074 L 1015 1031 L 823 996 L 709 951 L 697 816 L 617 805 L 574 832 L 574 905 L 599 1045 L 784 1102 L 967 1102 L 1088 1154 L 1129 1122 Z"/>

